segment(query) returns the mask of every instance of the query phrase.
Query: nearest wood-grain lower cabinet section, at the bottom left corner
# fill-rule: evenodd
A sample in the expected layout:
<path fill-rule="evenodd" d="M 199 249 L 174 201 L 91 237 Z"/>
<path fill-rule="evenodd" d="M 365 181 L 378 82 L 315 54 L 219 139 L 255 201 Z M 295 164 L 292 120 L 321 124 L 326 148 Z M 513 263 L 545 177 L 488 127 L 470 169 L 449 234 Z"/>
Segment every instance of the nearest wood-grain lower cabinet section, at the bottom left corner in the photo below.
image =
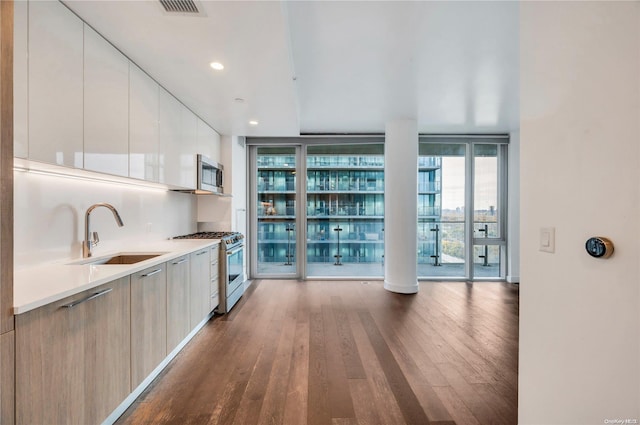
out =
<path fill-rule="evenodd" d="M 130 393 L 129 277 L 16 316 L 16 423 L 101 423 Z"/>

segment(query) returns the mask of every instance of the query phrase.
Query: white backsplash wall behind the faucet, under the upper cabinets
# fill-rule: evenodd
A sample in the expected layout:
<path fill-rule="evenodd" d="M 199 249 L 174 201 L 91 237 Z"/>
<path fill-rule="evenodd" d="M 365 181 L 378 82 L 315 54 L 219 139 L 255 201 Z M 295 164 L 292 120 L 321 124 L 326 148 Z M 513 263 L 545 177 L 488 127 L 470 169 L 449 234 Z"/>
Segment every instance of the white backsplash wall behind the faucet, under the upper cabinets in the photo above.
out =
<path fill-rule="evenodd" d="M 80 258 L 85 212 L 98 202 L 112 204 L 124 227 L 106 208 L 91 213 L 91 229 L 100 235 L 96 256 L 196 229 L 194 195 L 30 172 L 14 175 L 16 268 Z"/>

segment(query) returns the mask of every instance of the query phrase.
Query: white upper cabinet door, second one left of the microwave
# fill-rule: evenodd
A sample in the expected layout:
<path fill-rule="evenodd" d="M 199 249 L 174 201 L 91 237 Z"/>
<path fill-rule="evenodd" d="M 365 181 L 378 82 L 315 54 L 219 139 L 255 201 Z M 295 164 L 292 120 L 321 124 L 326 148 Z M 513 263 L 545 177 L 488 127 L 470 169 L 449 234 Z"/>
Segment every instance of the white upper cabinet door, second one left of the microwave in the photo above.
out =
<path fill-rule="evenodd" d="M 180 187 L 180 138 L 182 104 L 160 88 L 160 157 L 159 181 Z"/>

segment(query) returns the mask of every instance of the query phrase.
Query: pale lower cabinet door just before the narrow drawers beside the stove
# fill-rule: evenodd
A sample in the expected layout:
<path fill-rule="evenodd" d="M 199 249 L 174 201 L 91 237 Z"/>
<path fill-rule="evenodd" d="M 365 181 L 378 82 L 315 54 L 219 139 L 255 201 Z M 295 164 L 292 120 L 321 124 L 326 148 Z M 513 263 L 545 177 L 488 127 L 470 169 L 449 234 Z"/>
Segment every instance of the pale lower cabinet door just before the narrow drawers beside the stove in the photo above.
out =
<path fill-rule="evenodd" d="M 191 254 L 191 284 L 189 288 L 191 329 L 202 322 L 211 311 L 209 310 L 209 298 L 211 295 L 209 293 L 211 283 L 210 267 L 209 248 L 204 248 Z"/>

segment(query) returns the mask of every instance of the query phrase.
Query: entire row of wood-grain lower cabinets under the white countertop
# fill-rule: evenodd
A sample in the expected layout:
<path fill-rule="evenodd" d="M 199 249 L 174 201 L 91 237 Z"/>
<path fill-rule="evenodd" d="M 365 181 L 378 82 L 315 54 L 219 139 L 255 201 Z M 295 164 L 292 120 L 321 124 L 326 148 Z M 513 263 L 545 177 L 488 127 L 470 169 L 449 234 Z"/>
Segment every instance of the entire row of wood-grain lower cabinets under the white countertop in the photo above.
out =
<path fill-rule="evenodd" d="M 102 423 L 211 311 L 207 247 L 16 316 L 0 335 L 0 423 Z M 7 407 L 7 409 L 5 409 Z"/>

